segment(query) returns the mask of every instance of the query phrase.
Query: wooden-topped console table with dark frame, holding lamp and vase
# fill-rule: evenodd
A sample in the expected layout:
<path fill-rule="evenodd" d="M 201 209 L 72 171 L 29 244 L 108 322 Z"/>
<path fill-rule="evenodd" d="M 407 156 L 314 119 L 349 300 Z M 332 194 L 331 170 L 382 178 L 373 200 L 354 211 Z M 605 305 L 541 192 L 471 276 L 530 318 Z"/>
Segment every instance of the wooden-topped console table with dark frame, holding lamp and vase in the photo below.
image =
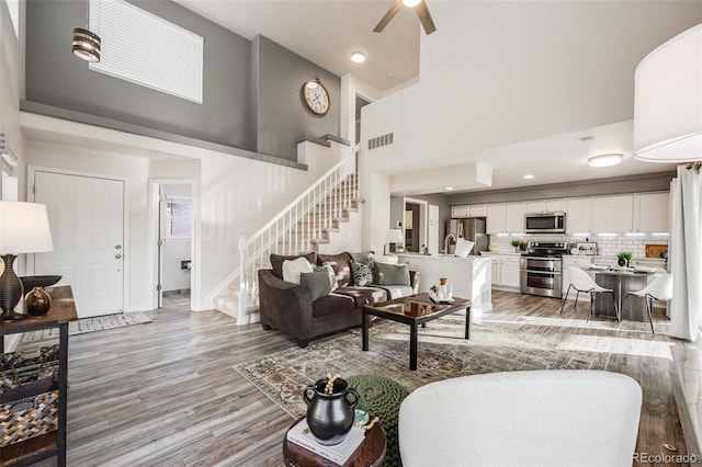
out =
<path fill-rule="evenodd" d="M 2 448 L 0 465 L 19 466 L 57 456 L 57 465 L 66 466 L 66 411 L 68 401 L 68 323 L 78 319 L 70 286 L 47 287 L 52 309 L 44 316 L 30 316 L 0 322 L 0 352 L 4 335 L 58 328 L 58 431 L 32 437 Z"/>

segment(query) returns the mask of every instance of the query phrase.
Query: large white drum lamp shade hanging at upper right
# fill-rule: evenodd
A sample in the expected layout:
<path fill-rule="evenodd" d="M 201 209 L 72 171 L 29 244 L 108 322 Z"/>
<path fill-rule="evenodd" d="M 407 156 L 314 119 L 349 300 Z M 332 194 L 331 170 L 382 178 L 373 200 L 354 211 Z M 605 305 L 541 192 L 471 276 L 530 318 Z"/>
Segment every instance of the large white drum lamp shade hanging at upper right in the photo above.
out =
<path fill-rule="evenodd" d="M 702 159 L 702 24 L 648 54 L 634 79 L 634 157 Z"/>

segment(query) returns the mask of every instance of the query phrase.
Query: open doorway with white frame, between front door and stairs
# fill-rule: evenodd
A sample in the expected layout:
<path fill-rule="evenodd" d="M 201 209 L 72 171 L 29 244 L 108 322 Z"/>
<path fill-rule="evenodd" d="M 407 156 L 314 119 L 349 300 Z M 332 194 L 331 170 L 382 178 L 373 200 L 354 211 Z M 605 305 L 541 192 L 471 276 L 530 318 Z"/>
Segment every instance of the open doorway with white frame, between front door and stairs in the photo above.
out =
<path fill-rule="evenodd" d="M 154 181 L 157 308 L 192 309 L 193 185 Z"/>

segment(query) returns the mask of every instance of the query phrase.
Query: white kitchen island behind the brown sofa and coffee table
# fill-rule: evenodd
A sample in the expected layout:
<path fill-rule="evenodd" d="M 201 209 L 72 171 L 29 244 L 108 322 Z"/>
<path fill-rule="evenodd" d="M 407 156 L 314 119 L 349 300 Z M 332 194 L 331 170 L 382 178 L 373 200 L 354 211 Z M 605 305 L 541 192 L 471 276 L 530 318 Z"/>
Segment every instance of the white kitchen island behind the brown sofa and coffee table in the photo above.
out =
<path fill-rule="evenodd" d="M 452 255 L 399 254 L 400 263 L 419 271 L 419 292 L 429 292 L 446 277 L 453 285 L 453 295 L 469 298 L 471 312 L 480 316 L 492 310 L 492 259 L 486 257 L 458 258 Z"/>

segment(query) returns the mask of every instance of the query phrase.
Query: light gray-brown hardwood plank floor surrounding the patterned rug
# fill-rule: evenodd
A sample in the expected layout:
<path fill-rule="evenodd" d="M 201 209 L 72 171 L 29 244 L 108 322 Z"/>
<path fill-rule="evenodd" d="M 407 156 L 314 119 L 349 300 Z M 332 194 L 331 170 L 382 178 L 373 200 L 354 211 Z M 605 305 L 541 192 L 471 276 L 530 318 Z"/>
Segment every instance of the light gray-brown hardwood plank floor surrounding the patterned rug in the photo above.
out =
<path fill-rule="evenodd" d="M 609 368 L 643 387 L 637 449 L 686 453 L 672 390 L 665 318 L 647 323 L 591 320 L 587 305 L 563 315 L 556 299 L 494 293 L 489 326 L 550 335 L 564 345 L 612 352 Z M 260 324 L 237 327 L 217 311 L 159 309 L 152 323 L 69 341 L 70 466 L 280 466 L 292 419 L 233 365 L 295 345 Z M 360 345 L 360 343 L 359 343 Z M 53 465 L 44 462 L 41 465 Z"/>

